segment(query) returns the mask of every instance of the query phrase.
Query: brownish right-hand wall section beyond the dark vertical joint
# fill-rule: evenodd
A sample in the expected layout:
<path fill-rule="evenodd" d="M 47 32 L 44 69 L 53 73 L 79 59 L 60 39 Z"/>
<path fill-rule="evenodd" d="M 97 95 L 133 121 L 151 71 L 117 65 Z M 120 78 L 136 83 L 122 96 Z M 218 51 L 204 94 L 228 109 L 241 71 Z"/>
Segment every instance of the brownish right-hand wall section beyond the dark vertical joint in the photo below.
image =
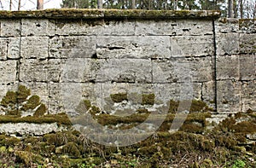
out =
<path fill-rule="evenodd" d="M 219 19 L 215 30 L 218 112 L 255 110 L 255 20 Z"/>

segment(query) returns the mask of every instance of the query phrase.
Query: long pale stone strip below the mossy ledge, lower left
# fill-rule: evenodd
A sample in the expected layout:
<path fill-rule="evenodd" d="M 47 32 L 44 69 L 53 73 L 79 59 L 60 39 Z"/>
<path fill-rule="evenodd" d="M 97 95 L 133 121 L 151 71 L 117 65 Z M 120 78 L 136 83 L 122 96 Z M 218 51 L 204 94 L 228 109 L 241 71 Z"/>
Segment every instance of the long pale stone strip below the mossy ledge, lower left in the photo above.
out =
<path fill-rule="evenodd" d="M 57 123 L 51 124 L 30 124 L 30 123 L 8 123 L 0 125 L 0 133 L 5 133 L 7 136 L 43 136 L 50 132 L 66 130 L 64 127 L 59 127 Z"/>

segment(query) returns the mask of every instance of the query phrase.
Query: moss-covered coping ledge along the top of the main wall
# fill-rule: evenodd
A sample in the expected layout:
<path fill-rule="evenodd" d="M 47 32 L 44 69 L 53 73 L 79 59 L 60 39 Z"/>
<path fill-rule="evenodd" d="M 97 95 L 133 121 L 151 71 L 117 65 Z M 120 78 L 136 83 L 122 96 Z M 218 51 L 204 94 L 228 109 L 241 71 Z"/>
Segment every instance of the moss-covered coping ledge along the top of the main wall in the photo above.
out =
<path fill-rule="evenodd" d="M 141 10 L 141 9 L 44 9 L 0 11 L 0 18 L 48 19 L 218 19 L 218 10 Z"/>

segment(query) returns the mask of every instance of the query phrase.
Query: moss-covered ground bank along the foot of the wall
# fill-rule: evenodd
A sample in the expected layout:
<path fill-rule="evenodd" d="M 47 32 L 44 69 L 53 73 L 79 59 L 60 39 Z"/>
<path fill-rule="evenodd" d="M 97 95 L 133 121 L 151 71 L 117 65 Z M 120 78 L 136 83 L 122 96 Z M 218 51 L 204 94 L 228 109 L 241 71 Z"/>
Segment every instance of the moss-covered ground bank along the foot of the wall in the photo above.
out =
<path fill-rule="evenodd" d="M 249 144 L 247 139 L 248 134 L 256 133 L 255 113 L 237 113 L 206 130 L 209 116 L 191 113 L 181 129 L 172 134 L 168 132 L 168 117 L 153 136 L 120 148 L 91 142 L 72 129 L 37 137 L 0 135 L 0 166 L 255 167 L 256 144 Z"/>

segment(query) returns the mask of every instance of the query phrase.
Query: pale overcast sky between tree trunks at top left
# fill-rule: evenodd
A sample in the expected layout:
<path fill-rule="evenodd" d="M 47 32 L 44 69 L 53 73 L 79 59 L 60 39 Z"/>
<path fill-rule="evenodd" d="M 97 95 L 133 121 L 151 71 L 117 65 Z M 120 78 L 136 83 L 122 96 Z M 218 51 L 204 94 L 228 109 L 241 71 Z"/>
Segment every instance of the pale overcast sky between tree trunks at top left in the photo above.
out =
<path fill-rule="evenodd" d="M 9 10 L 9 0 L 0 0 L 0 9 Z M 12 0 L 12 10 L 17 10 L 18 0 Z M 20 10 L 33 10 L 37 8 L 37 0 L 21 0 Z M 44 0 L 44 9 L 60 9 L 62 0 Z"/>

